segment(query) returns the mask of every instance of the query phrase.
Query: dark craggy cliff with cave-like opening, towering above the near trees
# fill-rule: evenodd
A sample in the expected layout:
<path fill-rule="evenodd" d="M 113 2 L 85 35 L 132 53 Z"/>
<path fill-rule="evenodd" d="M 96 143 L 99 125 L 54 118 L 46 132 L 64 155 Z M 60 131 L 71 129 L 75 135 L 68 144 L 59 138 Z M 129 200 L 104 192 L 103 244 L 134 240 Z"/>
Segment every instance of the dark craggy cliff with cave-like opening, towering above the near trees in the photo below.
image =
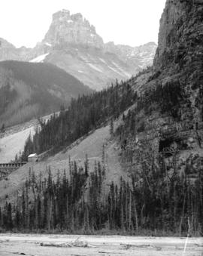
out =
<path fill-rule="evenodd" d="M 135 152 L 147 141 L 153 152 L 177 153 L 183 166 L 190 154 L 203 159 L 202 42 L 203 1 L 168 0 L 153 68 L 132 81 L 142 95 L 129 116 L 136 124 L 136 136 L 131 131 L 128 137 Z"/>

